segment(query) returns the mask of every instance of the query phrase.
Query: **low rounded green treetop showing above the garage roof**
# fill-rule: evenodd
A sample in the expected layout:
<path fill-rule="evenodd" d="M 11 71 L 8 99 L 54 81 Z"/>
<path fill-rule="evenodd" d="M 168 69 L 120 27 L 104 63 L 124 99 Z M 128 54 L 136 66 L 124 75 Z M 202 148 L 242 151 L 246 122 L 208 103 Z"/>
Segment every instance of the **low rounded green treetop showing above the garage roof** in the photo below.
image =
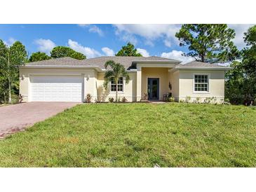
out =
<path fill-rule="evenodd" d="M 72 48 L 65 46 L 57 46 L 50 51 L 50 57 L 60 58 L 60 57 L 72 57 L 76 60 L 84 60 L 86 59 L 86 55 L 82 53 L 76 52 Z"/>

